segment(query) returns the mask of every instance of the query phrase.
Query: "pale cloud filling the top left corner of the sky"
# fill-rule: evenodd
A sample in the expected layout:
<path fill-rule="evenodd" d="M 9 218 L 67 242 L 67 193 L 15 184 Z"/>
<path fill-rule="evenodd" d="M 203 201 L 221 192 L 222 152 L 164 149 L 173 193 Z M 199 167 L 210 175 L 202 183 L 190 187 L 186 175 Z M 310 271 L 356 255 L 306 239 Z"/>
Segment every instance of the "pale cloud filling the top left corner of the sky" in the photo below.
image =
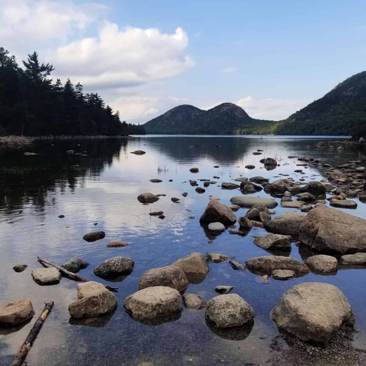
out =
<path fill-rule="evenodd" d="M 70 1 L 1 0 L 0 43 L 10 51 L 52 40 L 67 41 L 108 12 L 106 5 Z M 28 52 L 32 52 L 33 49 Z"/>

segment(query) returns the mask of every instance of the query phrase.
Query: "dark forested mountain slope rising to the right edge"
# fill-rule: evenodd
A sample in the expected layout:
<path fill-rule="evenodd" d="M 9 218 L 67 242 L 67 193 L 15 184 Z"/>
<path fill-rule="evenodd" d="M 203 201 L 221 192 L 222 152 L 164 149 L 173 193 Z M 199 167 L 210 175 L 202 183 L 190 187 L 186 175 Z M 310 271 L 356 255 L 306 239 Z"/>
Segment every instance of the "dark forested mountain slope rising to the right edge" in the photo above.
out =
<path fill-rule="evenodd" d="M 287 119 L 260 126 L 251 133 L 366 136 L 366 71 L 339 83 Z"/>

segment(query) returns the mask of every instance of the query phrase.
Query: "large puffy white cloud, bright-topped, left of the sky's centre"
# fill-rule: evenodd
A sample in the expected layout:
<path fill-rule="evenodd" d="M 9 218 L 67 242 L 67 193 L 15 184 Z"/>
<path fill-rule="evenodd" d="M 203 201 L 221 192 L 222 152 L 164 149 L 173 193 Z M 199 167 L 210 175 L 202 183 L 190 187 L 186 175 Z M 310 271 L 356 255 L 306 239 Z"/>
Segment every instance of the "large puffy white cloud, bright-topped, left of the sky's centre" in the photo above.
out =
<path fill-rule="evenodd" d="M 46 59 L 57 65 L 55 73 L 94 89 L 131 87 L 179 75 L 194 66 L 186 54 L 188 37 L 178 27 L 174 33 L 156 28 L 119 29 L 104 22 L 97 38 L 83 38 L 60 46 Z"/>

